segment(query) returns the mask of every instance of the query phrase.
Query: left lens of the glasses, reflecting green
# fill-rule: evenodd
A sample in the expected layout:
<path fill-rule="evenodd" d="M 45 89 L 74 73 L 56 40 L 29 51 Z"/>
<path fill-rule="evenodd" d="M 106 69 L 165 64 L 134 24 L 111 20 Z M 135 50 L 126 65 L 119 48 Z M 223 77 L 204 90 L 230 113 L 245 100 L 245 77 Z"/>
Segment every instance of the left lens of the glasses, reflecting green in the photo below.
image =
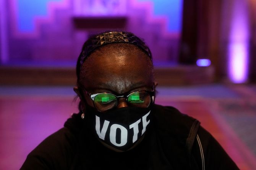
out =
<path fill-rule="evenodd" d="M 94 105 L 99 111 L 106 111 L 117 105 L 117 98 L 109 93 L 98 94 L 94 98 Z"/>

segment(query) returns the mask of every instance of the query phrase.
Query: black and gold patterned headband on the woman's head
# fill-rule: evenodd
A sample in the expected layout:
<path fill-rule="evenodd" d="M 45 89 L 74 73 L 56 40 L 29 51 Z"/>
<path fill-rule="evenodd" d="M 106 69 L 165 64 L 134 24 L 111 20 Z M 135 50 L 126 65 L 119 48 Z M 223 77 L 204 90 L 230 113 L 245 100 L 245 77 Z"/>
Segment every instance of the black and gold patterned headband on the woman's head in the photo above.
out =
<path fill-rule="evenodd" d="M 133 33 L 129 32 L 107 32 L 107 33 L 102 33 L 95 38 L 92 38 L 89 42 L 87 42 L 87 45 L 84 44 L 83 51 L 81 52 L 79 58 L 80 58 L 80 69 L 81 66 L 84 63 L 84 60 L 91 54 L 92 51 L 97 49 L 98 47 L 108 44 L 108 43 L 113 43 L 113 42 L 126 42 L 126 43 L 131 43 L 139 48 L 143 49 L 149 58 L 152 60 L 152 54 L 149 48 L 146 46 L 146 44 L 136 37 Z"/>

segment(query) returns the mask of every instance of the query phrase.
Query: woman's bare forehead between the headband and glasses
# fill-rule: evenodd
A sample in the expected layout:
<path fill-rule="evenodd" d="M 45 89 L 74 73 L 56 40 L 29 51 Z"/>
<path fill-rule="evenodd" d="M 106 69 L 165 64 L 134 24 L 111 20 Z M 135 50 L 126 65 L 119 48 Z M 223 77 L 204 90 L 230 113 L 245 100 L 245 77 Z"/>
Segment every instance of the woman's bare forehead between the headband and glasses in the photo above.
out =
<path fill-rule="evenodd" d="M 125 93 L 153 84 L 151 60 L 142 51 L 94 52 L 84 62 L 80 81 L 86 89 Z"/>

